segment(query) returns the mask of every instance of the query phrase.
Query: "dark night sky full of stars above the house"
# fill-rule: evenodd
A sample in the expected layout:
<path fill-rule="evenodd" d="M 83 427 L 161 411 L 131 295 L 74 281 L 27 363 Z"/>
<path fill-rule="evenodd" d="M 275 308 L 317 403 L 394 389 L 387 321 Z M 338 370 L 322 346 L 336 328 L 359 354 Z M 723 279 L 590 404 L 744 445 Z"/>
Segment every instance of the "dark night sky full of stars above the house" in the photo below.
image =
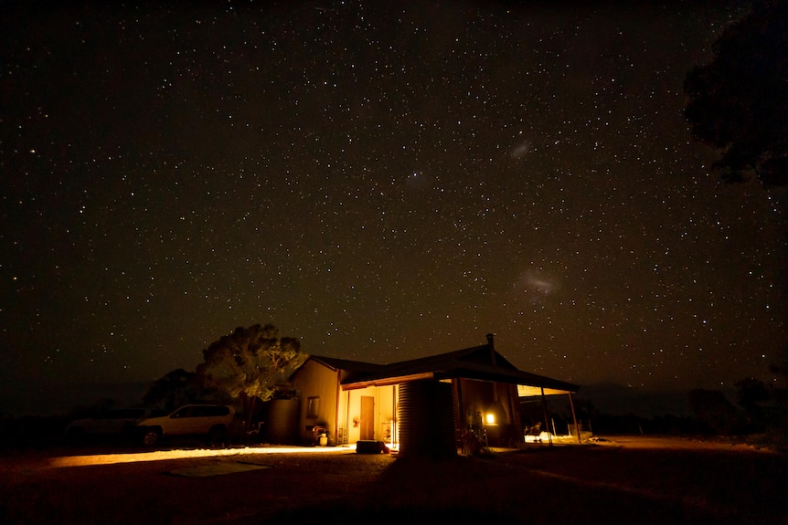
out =
<path fill-rule="evenodd" d="M 681 113 L 737 3 L 106 4 L 2 7 L 4 398 L 268 322 L 370 362 L 494 332 L 580 385 L 769 380 L 785 194 L 719 183 Z"/>

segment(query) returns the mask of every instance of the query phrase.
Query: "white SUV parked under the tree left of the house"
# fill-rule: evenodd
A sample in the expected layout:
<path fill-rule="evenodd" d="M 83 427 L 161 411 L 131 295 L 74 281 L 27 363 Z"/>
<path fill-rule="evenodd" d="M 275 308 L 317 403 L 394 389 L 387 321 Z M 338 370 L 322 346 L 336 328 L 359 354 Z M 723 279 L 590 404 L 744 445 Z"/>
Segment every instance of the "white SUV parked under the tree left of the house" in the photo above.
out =
<path fill-rule="evenodd" d="M 144 445 L 152 446 L 163 436 L 208 436 L 211 443 L 227 443 L 235 409 L 225 404 L 186 404 L 170 415 L 150 417 L 137 428 Z"/>

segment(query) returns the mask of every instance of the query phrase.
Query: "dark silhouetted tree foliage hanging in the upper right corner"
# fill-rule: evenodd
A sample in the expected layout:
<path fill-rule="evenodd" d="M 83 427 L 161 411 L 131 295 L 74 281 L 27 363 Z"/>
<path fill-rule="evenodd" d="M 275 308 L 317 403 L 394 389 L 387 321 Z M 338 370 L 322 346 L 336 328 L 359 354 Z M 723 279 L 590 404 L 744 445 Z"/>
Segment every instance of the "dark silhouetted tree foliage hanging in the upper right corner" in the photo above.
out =
<path fill-rule="evenodd" d="M 714 43 L 714 59 L 685 79 L 685 116 L 697 139 L 719 149 L 721 178 L 755 173 L 788 184 L 788 2 L 755 0 Z"/>

